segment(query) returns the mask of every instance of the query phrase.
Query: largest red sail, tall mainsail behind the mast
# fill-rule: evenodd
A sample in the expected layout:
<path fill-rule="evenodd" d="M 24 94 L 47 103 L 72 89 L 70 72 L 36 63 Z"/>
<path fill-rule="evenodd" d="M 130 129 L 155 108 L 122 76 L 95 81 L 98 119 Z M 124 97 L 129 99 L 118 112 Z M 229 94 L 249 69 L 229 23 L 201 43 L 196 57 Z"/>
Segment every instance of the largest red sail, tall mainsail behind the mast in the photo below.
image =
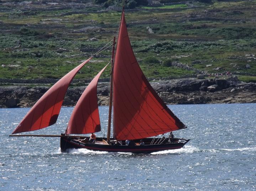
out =
<path fill-rule="evenodd" d="M 113 73 L 114 138 L 141 139 L 186 128 L 142 73 L 132 51 L 124 13 Z"/>

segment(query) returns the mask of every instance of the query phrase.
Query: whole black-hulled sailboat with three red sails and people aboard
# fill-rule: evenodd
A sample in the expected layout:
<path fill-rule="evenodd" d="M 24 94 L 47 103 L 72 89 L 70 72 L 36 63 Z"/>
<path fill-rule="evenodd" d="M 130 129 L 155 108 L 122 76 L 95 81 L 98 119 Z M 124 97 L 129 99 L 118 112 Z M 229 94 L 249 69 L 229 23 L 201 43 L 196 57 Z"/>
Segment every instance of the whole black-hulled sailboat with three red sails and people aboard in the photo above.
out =
<path fill-rule="evenodd" d="M 16 135 L 56 123 L 67 88 L 75 74 L 93 57 L 74 68 L 54 84 L 30 109 L 10 136 L 60 137 L 62 152 L 73 148 L 94 151 L 152 153 L 182 148 L 189 141 L 173 138 L 171 132 L 187 128 L 160 99 L 135 58 L 128 36 L 124 9 L 115 47 L 113 40 L 110 74 L 110 105 L 107 137 L 88 141 L 101 131 L 97 84 L 105 66 L 90 82 L 73 109 L 66 131 L 61 135 Z M 113 108 L 112 108 L 113 106 Z M 113 116 L 112 116 L 113 112 Z M 113 120 L 113 137 L 110 137 Z M 169 138 L 156 136 L 169 133 Z M 127 140 L 132 144 L 126 145 Z M 118 144 L 113 144 L 113 141 Z M 140 145 L 143 142 L 143 145 Z"/>

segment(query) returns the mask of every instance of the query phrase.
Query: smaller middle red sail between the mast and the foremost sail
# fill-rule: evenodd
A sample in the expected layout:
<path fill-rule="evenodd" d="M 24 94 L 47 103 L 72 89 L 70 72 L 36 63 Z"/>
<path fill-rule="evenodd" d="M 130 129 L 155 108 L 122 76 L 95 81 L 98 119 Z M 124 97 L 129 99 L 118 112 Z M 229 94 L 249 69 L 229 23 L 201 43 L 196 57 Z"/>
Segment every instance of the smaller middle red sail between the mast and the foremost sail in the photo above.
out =
<path fill-rule="evenodd" d="M 107 66 L 94 77 L 75 105 L 68 123 L 67 134 L 87 134 L 100 131 L 97 84 L 101 73 Z"/>

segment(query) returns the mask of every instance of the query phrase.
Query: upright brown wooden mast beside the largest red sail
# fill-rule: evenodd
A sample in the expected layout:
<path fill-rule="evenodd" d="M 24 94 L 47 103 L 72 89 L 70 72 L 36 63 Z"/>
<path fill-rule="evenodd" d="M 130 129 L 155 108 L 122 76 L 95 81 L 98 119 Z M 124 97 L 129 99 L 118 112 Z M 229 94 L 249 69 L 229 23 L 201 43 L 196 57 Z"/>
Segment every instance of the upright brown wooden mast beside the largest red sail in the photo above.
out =
<path fill-rule="evenodd" d="M 107 142 L 110 142 L 110 131 L 111 131 L 111 116 L 112 116 L 112 101 L 113 101 L 113 68 L 114 68 L 114 55 L 115 55 L 115 40 L 113 40 L 112 58 L 111 58 L 111 72 L 110 72 L 110 94 L 109 94 L 109 120 L 108 120 L 108 134 Z"/>

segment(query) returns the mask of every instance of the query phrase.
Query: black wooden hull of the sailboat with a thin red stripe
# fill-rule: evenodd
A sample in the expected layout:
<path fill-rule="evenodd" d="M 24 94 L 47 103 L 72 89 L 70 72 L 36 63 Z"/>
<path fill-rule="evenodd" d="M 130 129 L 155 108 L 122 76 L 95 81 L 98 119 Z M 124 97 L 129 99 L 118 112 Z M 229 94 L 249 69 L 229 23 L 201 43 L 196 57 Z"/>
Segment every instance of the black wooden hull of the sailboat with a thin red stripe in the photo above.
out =
<path fill-rule="evenodd" d="M 97 138 L 97 140 L 102 140 L 102 138 Z M 151 142 L 152 138 L 143 139 L 145 142 Z M 126 146 L 126 145 L 103 145 L 103 144 L 92 144 L 83 143 L 79 139 L 73 137 L 61 137 L 61 151 L 68 152 L 72 148 L 87 148 L 93 151 L 106 151 L 106 152 L 126 152 L 126 153 L 152 153 L 164 150 L 173 150 L 182 148 L 188 140 L 185 139 L 174 139 L 173 143 L 168 144 L 155 144 L 155 145 L 136 145 L 136 146 Z"/>

